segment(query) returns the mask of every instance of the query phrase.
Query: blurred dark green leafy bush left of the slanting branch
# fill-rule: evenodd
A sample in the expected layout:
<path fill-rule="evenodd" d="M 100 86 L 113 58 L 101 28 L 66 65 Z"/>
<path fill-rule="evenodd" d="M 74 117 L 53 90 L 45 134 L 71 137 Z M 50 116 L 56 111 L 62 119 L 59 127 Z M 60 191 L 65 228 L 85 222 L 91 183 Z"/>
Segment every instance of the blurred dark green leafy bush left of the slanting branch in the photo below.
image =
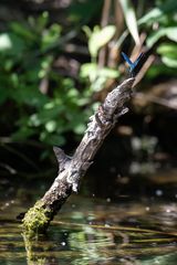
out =
<path fill-rule="evenodd" d="M 66 131 L 84 131 L 87 92 L 79 92 L 73 80 L 58 74 L 56 54 L 48 52 L 56 42 L 60 46 L 61 31 L 56 23 L 49 25 L 44 12 L 28 22 L 10 22 L 0 34 L 1 121 L 4 127 L 9 123 L 12 140 L 39 137 L 45 144 L 63 145 Z"/>

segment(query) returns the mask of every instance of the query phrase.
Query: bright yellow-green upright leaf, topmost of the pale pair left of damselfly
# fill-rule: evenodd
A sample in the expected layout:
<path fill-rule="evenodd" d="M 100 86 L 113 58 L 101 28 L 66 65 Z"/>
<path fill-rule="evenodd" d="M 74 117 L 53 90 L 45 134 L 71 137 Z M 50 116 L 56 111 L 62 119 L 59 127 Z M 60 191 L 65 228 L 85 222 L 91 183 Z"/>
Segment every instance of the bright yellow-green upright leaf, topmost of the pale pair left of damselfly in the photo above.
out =
<path fill-rule="evenodd" d="M 97 56 L 98 50 L 111 41 L 115 31 L 115 25 L 107 25 L 103 29 L 100 29 L 98 26 L 94 28 L 91 39 L 88 40 L 88 50 L 92 57 Z"/>

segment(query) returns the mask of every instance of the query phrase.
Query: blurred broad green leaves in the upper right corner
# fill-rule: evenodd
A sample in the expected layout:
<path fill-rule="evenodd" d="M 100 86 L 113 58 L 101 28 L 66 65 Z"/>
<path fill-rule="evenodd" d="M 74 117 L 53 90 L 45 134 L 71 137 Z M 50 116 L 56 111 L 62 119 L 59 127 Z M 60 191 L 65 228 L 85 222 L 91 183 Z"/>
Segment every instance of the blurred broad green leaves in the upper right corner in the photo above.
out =
<path fill-rule="evenodd" d="M 171 68 L 171 75 L 176 74 L 177 67 L 177 53 L 175 51 L 177 42 L 176 9 L 177 2 L 174 0 L 157 1 L 156 7 L 138 20 L 139 26 L 145 28 L 146 32 L 148 32 L 146 41 L 148 49 L 156 47 L 164 68 L 166 71 Z M 153 71 L 155 71 L 156 75 L 164 74 L 164 71 L 162 73 L 162 63 L 152 67 L 150 72 Z"/>

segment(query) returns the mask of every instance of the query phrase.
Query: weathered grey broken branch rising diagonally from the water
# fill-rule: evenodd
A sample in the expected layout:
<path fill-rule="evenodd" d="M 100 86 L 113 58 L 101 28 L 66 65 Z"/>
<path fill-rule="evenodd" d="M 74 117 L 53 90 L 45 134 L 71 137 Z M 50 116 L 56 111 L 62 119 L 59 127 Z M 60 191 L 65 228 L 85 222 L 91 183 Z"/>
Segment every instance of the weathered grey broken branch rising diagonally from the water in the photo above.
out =
<path fill-rule="evenodd" d="M 80 180 L 93 163 L 93 158 L 105 137 L 117 118 L 128 112 L 125 103 L 131 98 L 134 81 L 135 78 L 128 78 L 107 94 L 104 103 L 90 117 L 87 129 L 73 157 L 54 147 L 59 174 L 44 197 L 27 212 L 23 219 L 25 231 L 32 234 L 45 231 L 72 191 L 77 192 Z"/>

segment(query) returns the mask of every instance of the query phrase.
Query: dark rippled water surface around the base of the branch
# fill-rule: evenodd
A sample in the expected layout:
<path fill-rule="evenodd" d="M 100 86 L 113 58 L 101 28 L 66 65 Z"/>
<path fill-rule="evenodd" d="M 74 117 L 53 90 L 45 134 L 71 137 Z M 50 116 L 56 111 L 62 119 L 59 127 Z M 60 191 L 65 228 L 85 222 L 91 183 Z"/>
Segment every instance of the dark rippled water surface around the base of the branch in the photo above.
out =
<path fill-rule="evenodd" d="M 177 264 L 175 201 L 156 197 L 113 203 L 72 195 L 48 235 L 30 243 L 15 219 L 29 208 L 27 202 L 19 194 L 1 195 L 0 265 Z"/>

